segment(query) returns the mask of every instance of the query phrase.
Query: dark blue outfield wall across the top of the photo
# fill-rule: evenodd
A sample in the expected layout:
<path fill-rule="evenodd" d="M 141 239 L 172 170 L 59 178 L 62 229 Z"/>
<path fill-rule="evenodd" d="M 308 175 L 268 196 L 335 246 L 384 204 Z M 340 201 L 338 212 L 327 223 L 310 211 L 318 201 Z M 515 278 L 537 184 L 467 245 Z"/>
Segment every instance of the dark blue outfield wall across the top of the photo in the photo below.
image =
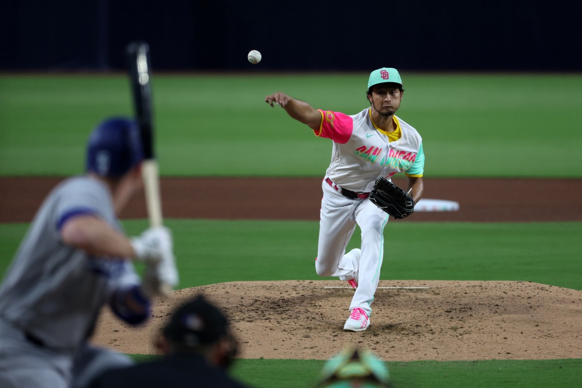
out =
<path fill-rule="evenodd" d="M 2 0 L 1 70 L 580 71 L 579 1 Z"/>

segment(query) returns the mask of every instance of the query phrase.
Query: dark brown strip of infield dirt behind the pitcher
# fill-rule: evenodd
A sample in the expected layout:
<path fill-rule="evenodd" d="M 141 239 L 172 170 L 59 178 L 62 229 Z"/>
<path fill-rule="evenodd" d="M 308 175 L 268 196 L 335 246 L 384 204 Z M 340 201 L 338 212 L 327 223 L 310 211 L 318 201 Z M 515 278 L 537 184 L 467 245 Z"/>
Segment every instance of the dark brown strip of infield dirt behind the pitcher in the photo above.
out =
<path fill-rule="evenodd" d="M 0 179 L 0 222 L 29 222 L 61 177 Z M 393 180 L 400 187 L 402 179 Z M 424 179 L 424 198 L 457 201 L 459 211 L 417 212 L 399 222 L 582 220 L 582 179 Z M 164 178 L 164 216 L 318 220 L 318 178 Z M 145 218 L 143 194 L 121 218 Z"/>

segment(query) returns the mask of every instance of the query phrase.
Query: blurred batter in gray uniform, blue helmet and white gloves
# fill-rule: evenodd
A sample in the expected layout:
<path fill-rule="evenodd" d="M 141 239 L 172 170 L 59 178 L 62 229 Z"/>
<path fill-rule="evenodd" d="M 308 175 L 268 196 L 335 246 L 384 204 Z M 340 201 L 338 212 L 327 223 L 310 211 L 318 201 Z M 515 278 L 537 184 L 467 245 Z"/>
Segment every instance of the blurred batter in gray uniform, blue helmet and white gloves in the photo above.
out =
<path fill-rule="evenodd" d="M 87 344 L 101 307 L 146 321 L 161 284 L 178 283 L 171 234 L 123 233 L 118 215 L 141 188 L 137 125 L 111 118 L 91 133 L 83 176 L 42 203 L 0 284 L 0 386 L 83 387 L 128 357 Z M 145 263 L 143 279 L 131 260 Z"/>

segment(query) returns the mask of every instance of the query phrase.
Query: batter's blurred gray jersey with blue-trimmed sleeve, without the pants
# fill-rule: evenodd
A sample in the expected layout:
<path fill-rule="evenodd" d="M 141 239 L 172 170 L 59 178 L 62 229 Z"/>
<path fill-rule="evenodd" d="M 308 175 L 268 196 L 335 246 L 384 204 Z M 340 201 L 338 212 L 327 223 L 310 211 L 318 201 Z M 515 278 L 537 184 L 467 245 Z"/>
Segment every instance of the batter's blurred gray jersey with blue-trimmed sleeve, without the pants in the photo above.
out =
<path fill-rule="evenodd" d="M 89 177 L 59 184 L 45 199 L 0 285 L 0 317 L 47 346 L 74 349 L 117 287 L 138 283 L 124 258 L 100 258 L 63 243 L 60 227 L 93 213 L 120 229 L 108 188 Z"/>

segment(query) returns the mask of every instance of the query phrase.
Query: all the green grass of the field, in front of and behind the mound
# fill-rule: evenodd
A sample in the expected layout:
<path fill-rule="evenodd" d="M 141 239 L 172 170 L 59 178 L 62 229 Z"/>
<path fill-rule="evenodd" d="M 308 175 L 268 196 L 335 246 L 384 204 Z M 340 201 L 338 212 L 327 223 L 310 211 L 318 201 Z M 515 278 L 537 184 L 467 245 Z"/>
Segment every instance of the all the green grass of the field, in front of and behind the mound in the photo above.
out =
<path fill-rule="evenodd" d="M 425 176 L 582 177 L 582 75 L 402 76 L 406 92 L 398 115 L 423 135 Z M 356 113 L 367 106 L 366 82 L 367 74 L 154 74 L 161 173 L 321 176 L 329 141 L 270 108 L 264 96 L 281 90 L 316 108 Z M 94 124 L 131 111 L 123 75 L 0 74 L 0 176 L 79 173 Z M 317 222 L 165 222 L 175 237 L 180 287 L 321 279 L 313 268 Z M 147 225 L 123 223 L 131 234 Z M 415 243 L 390 241 L 382 279 L 522 280 L 582 290 L 582 222 L 398 227 Z M 0 275 L 26 229 L 26 223 L 0 224 Z M 357 234 L 350 247 L 359 244 Z M 323 364 L 241 359 L 232 372 L 257 387 L 311 387 Z M 396 388 L 577 387 L 582 375 L 582 359 L 386 365 Z"/>

